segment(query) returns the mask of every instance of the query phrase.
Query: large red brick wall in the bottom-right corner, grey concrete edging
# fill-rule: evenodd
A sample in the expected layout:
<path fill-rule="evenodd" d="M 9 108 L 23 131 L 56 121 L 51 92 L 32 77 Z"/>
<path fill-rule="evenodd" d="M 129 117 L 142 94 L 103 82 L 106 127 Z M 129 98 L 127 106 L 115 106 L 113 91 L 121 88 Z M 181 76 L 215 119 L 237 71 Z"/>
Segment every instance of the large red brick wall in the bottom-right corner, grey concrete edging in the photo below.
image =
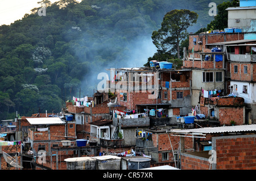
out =
<path fill-rule="evenodd" d="M 256 136 L 216 137 L 216 169 L 256 169 Z"/>

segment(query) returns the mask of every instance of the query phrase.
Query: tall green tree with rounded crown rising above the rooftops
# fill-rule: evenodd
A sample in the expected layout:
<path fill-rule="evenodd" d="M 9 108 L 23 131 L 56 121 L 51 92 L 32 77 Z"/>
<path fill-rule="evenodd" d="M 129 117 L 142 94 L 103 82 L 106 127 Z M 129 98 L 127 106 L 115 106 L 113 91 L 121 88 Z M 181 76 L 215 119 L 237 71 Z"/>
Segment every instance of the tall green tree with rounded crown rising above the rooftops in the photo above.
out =
<path fill-rule="evenodd" d="M 152 33 L 156 48 L 168 52 L 176 46 L 180 58 L 180 42 L 187 36 L 187 28 L 196 23 L 198 15 L 189 10 L 172 10 L 164 15 L 161 28 Z"/>

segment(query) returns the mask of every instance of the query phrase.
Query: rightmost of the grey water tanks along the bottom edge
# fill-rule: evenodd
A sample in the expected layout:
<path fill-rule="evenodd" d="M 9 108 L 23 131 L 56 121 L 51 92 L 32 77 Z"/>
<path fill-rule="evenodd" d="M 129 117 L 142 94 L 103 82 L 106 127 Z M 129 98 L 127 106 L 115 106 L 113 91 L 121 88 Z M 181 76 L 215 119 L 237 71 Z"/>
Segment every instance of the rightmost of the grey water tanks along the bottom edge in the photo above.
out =
<path fill-rule="evenodd" d="M 138 170 L 138 169 L 146 169 L 150 167 L 149 158 L 131 158 L 127 159 L 128 162 L 128 170 Z"/>

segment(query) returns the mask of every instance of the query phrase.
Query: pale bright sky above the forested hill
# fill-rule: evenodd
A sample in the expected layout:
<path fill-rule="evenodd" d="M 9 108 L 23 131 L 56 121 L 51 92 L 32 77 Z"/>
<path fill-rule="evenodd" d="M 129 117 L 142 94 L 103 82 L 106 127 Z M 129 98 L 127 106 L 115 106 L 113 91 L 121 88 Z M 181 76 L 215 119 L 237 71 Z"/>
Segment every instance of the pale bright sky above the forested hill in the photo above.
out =
<path fill-rule="evenodd" d="M 26 13 L 30 14 L 30 10 L 41 6 L 38 4 L 40 1 L 42 0 L 0 0 L 0 26 L 9 25 L 15 20 L 22 19 Z M 50 1 L 53 3 L 59 0 Z"/>

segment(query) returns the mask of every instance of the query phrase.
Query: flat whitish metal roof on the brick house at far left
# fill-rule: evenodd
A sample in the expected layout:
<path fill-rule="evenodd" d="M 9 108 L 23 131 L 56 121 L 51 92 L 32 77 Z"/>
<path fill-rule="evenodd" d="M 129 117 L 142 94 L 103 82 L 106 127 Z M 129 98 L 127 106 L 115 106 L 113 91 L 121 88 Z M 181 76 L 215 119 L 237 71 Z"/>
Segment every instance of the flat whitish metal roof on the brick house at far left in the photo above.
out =
<path fill-rule="evenodd" d="M 31 125 L 65 124 L 65 121 L 61 120 L 60 117 L 35 117 L 26 119 Z"/>

